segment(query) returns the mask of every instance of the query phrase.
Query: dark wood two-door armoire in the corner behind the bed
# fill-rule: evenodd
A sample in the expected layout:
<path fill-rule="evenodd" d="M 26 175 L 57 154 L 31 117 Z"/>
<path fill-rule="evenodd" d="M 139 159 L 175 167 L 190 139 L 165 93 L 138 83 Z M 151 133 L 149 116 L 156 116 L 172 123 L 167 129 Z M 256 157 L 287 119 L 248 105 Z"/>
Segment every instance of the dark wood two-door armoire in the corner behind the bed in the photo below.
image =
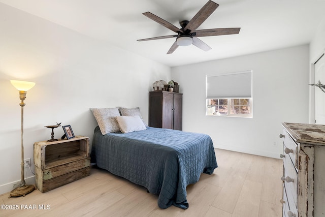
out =
<path fill-rule="evenodd" d="M 178 92 L 149 92 L 149 127 L 182 130 L 182 97 Z"/>

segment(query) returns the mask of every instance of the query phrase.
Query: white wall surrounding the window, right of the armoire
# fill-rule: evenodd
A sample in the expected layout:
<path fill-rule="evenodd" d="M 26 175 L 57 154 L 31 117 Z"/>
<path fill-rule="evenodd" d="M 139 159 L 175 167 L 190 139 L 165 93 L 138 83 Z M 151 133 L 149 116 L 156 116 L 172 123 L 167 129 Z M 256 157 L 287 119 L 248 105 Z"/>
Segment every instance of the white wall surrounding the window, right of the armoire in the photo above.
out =
<path fill-rule="evenodd" d="M 207 74 L 253 71 L 253 118 L 205 116 Z M 308 45 L 172 68 L 183 92 L 183 130 L 215 147 L 278 158 L 281 122 L 308 123 Z M 274 146 L 274 142 L 277 146 Z"/>

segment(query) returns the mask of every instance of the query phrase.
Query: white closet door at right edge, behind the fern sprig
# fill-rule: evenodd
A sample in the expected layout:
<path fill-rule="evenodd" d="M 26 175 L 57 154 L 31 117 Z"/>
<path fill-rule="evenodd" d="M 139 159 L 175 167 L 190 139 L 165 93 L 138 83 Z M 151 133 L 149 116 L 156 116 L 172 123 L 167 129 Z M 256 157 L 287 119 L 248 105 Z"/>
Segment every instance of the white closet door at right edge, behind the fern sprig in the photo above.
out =
<path fill-rule="evenodd" d="M 325 84 L 325 56 L 315 64 L 315 83 Z M 315 87 L 315 120 L 317 125 L 325 125 L 325 92 Z"/>

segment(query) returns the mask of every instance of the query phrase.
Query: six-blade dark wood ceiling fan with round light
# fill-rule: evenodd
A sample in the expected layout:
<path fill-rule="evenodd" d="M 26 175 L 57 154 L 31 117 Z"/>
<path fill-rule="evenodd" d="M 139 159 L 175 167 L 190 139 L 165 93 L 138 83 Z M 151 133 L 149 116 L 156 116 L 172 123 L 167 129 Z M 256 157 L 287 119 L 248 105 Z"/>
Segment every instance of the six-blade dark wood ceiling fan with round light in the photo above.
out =
<path fill-rule="evenodd" d="M 156 40 L 156 39 L 168 39 L 168 38 L 176 38 L 176 41 L 169 49 L 167 54 L 173 53 L 178 46 L 188 46 L 194 45 L 198 48 L 208 51 L 211 50 L 206 43 L 198 39 L 197 37 L 205 37 L 205 36 L 221 36 L 221 35 L 232 35 L 232 34 L 239 34 L 240 28 L 210 28 L 210 29 L 200 29 L 196 30 L 213 12 L 217 9 L 219 5 L 209 1 L 201 10 L 190 20 L 183 20 L 179 24 L 181 28 L 176 27 L 175 25 L 169 23 L 168 21 L 157 17 L 156 15 L 145 12 L 143 15 L 149 17 L 150 19 L 156 21 L 157 23 L 164 25 L 165 27 L 171 29 L 177 35 L 170 35 L 170 36 L 159 36 L 154 38 L 148 39 L 139 39 L 137 41 L 149 41 L 149 40 Z"/>

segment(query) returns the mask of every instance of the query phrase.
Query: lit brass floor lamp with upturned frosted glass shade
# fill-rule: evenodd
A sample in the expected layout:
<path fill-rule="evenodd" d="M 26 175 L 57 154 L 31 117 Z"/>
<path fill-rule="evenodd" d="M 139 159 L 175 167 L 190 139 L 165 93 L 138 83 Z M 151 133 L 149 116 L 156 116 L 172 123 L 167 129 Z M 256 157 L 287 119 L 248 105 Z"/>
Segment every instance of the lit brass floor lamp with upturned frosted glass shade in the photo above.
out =
<path fill-rule="evenodd" d="M 18 196 L 25 196 L 26 194 L 34 191 L 35 187 L 31 184 L 25 184 L 25 178 L 24 178 L 24 145 L 23 145 L 23 123 L 24 123 L 24 100 L 26 99 L 27 90 L 34 87 L 34 82 L 28 82 L 28 81 L 17 81 L 17 80 L 11 80 L 11 84 L 16 87 L 19 90 L 19 98 L 21 100 L 21 103 L 19 105 L 21 106 L 21 180 L 18 183 L 18 187 L 15 188 L 10 192 L 10 197 L 18 197 Z"/>

